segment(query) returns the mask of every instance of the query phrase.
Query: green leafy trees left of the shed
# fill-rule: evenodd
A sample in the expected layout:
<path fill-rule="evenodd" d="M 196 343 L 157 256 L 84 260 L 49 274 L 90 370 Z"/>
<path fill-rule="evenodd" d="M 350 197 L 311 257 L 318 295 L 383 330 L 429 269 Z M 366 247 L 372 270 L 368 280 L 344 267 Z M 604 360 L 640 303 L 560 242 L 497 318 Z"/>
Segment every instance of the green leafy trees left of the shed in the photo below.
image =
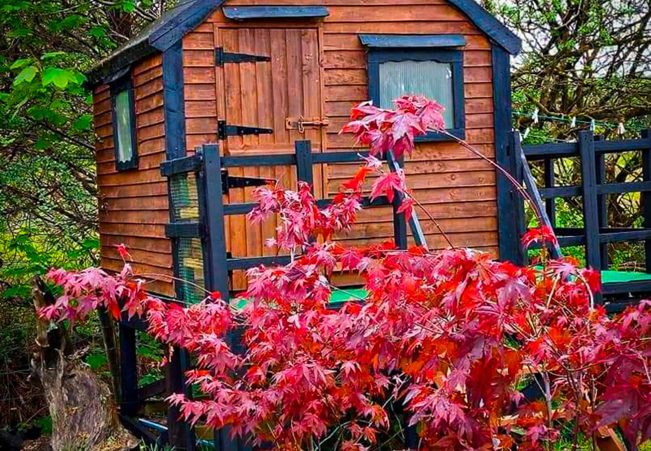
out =
<path fill-rule="evenodd" d="M 0 1 L 1 241 L 31 240 L 48 255 L 87 250 L 76 259 L 94 263 L 87 239 L 96 236 L 98 203 L 83 73 L 167 3 Z M 14 250 L 0 248 L 5 269 L 24 269 L 29 259 Z"/>

